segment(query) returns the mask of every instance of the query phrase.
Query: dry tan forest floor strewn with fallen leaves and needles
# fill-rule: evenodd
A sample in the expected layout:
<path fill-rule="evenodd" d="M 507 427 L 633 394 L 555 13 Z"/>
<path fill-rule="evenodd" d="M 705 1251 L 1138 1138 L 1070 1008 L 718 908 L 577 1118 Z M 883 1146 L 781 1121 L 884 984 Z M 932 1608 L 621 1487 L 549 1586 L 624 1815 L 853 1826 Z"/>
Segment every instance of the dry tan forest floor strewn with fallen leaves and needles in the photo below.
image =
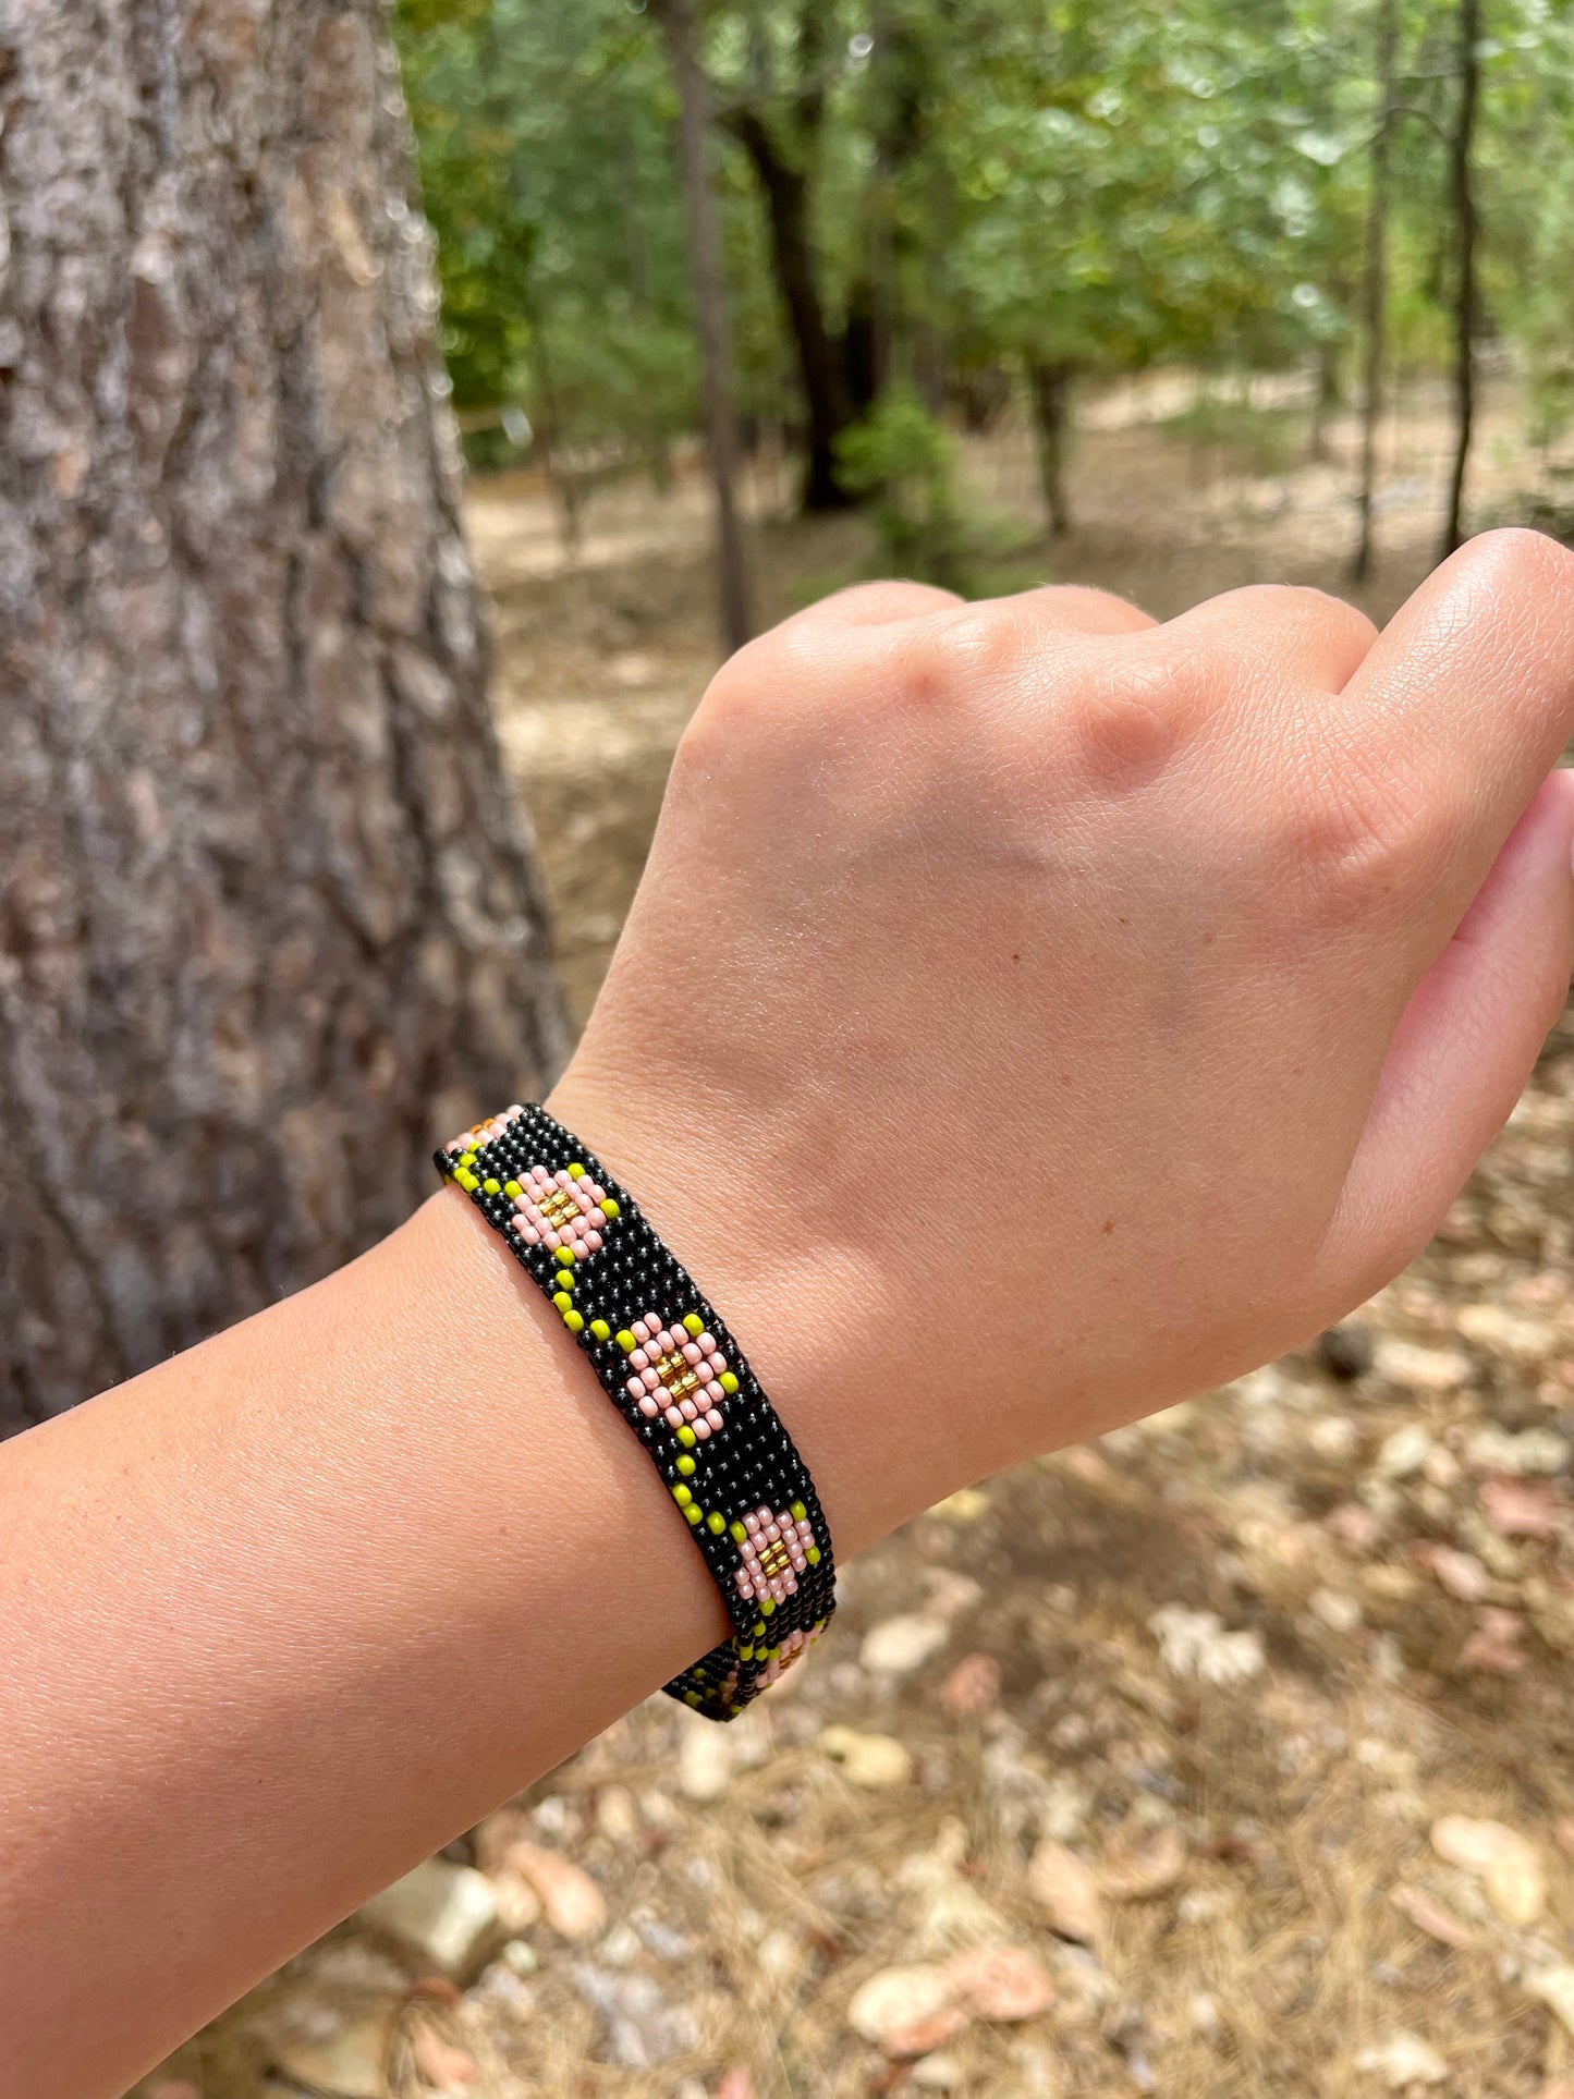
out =
<path fill-rule="evenodd" d="M 1347 470 L 1154 399 L 1093 418 L 1035 573 L 1161 615 L 1343 590 Z M 1379 617 L 1429 567 L 1442 430 L 1389 453 Z M 1030 514 L 1020 439 L 970 476 Z M 1528 481 L 1494 405 L 1477 502 Z M 523 479 L 470 523 L 581 1018 L 716 661 L 701 489 L 598 497 L 573 558 Z M 753 558 L 777 617 L 871 550 L 760 516 Z M 1574 2099 L 1572 1140 L 1574 1014 L 1337 1335 L 951 1497 L 732 1727 L 619 1721 L 434 1868 L 476 1900 L 458 1984 L 353 1918 L 139 2099 Z"/>

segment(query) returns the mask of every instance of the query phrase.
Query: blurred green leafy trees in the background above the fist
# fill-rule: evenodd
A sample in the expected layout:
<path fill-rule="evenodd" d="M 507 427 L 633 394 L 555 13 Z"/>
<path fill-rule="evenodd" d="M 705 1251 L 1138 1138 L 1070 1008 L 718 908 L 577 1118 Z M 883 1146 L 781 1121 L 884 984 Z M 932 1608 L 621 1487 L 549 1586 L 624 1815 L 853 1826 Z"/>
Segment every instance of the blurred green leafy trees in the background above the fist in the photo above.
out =
<path fill-rule="evenodd" d="M 699 428 L 663 40 L 642 0 L 399 25 L 474 458 L 533 453 L 573 531 L 573 487 L 661 474 Z M 701 0 L 695 38 L 737 407 L 810 510 L 869 493 L 844 441 L 881 403 L 921 453 L 911 403 L 1014 403 L 1064 531 L 1079 393 L 1167 363 L 1226 399 L 1297 372 L 1320 414 L 1370 393 L 1373 430 L 1448 378 L 1446 544 L 1482 357 L 1524 374 L 1543 449 L 1566 432 L 1568 0 Z"/>

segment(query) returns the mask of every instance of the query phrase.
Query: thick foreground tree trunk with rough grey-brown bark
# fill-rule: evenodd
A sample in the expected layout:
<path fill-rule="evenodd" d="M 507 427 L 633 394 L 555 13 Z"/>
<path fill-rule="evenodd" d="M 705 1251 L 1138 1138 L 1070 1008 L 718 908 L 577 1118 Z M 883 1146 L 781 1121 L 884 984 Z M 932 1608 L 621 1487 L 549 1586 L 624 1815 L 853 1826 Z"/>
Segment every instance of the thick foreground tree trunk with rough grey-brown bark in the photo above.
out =
<path fill-rule="evenodd" d="M 0 1432 L 567 1035 L 374 0 L 0 0 Z"/>

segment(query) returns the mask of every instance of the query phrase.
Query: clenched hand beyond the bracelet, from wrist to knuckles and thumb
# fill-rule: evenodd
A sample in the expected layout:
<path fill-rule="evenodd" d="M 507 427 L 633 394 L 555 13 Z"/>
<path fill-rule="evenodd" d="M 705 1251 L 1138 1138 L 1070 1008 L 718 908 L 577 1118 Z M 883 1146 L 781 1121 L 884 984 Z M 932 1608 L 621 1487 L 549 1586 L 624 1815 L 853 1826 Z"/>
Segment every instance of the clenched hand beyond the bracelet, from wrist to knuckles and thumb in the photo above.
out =
<path fill-rule="evenodd" d="M 732 657 L 552 1098 L 856 1549 L 1410 1259 L 1568 989 L 1574 556 L 1310 590 L 844 592 Z"/>

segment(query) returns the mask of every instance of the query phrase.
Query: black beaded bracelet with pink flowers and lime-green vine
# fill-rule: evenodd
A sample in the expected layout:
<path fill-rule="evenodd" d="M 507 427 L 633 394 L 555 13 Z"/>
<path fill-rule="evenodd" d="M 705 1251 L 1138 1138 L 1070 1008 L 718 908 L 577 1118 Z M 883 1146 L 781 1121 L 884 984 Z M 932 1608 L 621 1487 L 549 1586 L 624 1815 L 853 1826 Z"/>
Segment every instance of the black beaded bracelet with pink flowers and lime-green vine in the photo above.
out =
<path fill-rule="evenodd" d="M 552 1299 L 682 1509 L 732 1637 L 667 1692 L 732 1719 L 835 1610 L 831 1532 L 791 1436 L 638 1203 L 546 1108 L 516 1102 L 434 1163 Z"/>

